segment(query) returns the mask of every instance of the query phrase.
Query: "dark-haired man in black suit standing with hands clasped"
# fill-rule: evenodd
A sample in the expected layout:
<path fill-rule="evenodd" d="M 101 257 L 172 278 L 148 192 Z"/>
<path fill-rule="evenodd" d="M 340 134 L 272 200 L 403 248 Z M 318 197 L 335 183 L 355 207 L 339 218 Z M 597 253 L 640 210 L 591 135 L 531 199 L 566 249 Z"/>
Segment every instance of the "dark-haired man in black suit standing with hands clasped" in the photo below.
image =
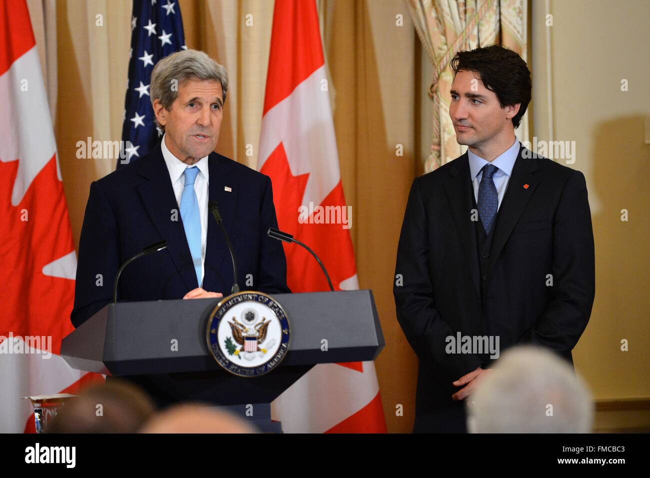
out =
<path fill-rule="evenodd" d="M 466 431 L 463 401 L 498 352 L 458 353 L 458 338 L 532 343 L 573 364 L 595 294 L 584 176 L 515 137 L 531 97 L 525 61 L 489 46 L 451 68 L 449 114 L 469 149 L 413 181 L 395 268 L 397 318 L 420 361 L 414 432 Z"/>

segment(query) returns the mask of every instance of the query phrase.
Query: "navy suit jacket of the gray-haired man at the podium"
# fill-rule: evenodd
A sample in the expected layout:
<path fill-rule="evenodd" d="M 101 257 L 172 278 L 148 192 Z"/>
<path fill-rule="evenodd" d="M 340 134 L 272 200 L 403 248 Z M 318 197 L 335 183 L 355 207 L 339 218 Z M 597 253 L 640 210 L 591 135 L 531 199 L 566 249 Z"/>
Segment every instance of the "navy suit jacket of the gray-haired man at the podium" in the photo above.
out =
<path fill-rule="evenodd" d="M 279 241 L 266 235 L 268 228 L 278 227 L 270 178 L 217 153 L 209 155 L 208 167 L 209 200 L 218 202 L 233 243 L 240 287 L 289 293 L 284 250 Z M 138 161 L 90 185 L 70 315 L 73 325 L 78 327 L 112 300 L 113 281 L 124 261 L 163 239 L 168 244 L 166 249 L 136 259 L 124 269 L 118 301 L 182 299 L 198 287 L 179 206 L 158 143 Z M 211 215 L 207 216 L 203 275 L 203 289 L 221 292 L 224 297 L 230 294 L 232 261 Z M 252 285 L 246 284 L 250 279 Z"/>

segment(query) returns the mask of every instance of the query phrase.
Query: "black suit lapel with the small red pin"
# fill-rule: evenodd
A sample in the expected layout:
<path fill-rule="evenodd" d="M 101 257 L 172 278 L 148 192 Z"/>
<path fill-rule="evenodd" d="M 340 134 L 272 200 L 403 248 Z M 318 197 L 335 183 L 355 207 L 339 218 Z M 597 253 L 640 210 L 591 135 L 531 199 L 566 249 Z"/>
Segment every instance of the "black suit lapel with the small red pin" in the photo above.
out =
<path fill-rule="evenodd" d="M 538 169 L 538 161 L 535 157 L 523 157 L 524 150 L 524 146 L 519 148 L 519 157 L 517 157 L 512 168 L 512 176 L 508 181 L 508 190 L 497 215 L 492 251 L 489 257 L 490 278 L 492 276 L 491 271 L 494 270 L 499 260 L 503 246 L 508 241 L 508 237 L 510 237 L 515 224 L 517 224 L 521 213 L 523 213 L 528 200 L 530 200 L 539 183 L 539 178 L 536 178 L 533 174 Z"/>

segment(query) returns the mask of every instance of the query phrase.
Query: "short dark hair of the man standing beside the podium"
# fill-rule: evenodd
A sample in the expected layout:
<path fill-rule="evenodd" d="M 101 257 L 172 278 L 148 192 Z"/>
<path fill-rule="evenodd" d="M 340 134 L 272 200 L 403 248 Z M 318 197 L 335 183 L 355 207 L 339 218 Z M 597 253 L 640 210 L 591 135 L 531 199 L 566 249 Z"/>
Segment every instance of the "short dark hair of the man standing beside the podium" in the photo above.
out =
<path fill-rule="evenodd" d="M 483 85 L 497 94 L 502 108 L 521 103 L 512 118 L 513 126 L 519 126 L 530 103 L 532 81 L 526 62 L 515 51 L 500 45 L 459 51 L 449 66 L 454 77 L 460 70 L 478 73 Z"/>

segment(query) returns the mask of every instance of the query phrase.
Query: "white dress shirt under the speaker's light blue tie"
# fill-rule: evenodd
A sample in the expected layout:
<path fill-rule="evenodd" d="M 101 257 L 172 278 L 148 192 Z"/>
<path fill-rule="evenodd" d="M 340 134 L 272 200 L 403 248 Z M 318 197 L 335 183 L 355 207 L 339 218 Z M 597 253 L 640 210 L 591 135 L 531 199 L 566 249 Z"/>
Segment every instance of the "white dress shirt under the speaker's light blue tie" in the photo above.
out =
<path fill-rule="evenodd" d="M 162 135 L 161 150 L 164 162 L 169 171 L 169 177 L 172 180 L 172 187 L 174 187 L 174 195 L 176 196 L 176 204 L 178 204 L 178 215 L 181 216 L 181 196 L 183 195 L 183 187 L 185 187 L 185 169 L 196 166 L 199 168 L 199 174 L 196 175 L 194 180 L 194 191 L 196 191 L 196 198 L 199 203 L 199 215 L 201 217 L 201 284 L 205 278 L 205 244 L 207 243 L 207 196 L 209 184 L 209 169 L 207 165 L 207 156 L 202 157 L 192 166 L 186 165 L 175 157 L 165 144 L 166 135 Z M 199 286 L 201 286 L 199 284 Z"/>

